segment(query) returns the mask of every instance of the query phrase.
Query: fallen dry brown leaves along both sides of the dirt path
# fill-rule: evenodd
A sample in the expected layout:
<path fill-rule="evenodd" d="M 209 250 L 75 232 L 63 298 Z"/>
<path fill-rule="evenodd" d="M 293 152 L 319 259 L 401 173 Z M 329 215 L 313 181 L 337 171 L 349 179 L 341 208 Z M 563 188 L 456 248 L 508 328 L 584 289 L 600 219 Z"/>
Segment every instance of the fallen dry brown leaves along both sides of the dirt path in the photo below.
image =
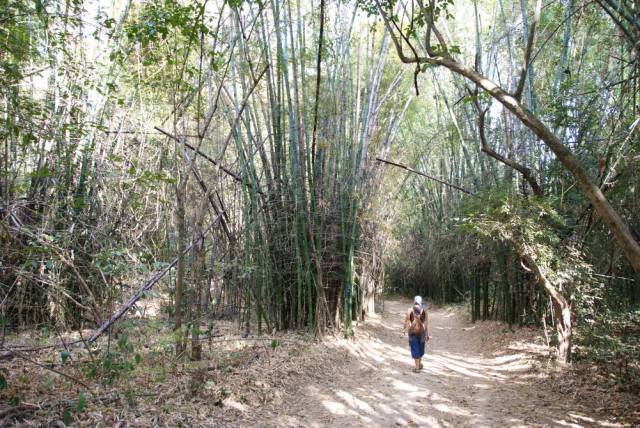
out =
<path fill-rule="evenodd" d="M 443 320 L 461 318 L 458 309 L 450 311 L 443 312 Z M 203 340 L 203 359 L 196 362 L 174 359 L 168 322 L 158 318 L 130 319 L 121 326 L 119 337 L 101 339 L 95 354 L 80 346 L 72 348 L 63 362 L 57 348 L 28 352 L 29 358 L 40 366 L 4 354 L 2 368 L 8 386 L 0 391 L 0 425 L 63 426 L 66 418 L 74 426 L 295 426 L 314 414 L 319 425 L 336 424 L 339 419 L 318 411 L 317 400 L 305 394 L 314 385 L 330 389 L 340 384 L 346 390 L 366 387 L 367 383 L 374 387 L 380 382 L 375 361 L 369 364 L 365 357 L 372 357 L 371 349 L 386 352 L 384 335 L 397 335 L 391 331 L 395 327 L 383 321 L 373 318 L 366 326 L 357 327 L 353 339 L 336 335 L 322 341 L 295 332 L 242 338 L 236 323 L 216 321 L 215 337 Z M 464 341 L 451 346 L 474 350 L 487 358 L 524 355 L 531 363 L 520 375 L 522 385 L 492 392 L 492 399 L 509 394 L 505 399 L 511 400 L 509 412 L 486 407 L 495 417 L 505 421 L 516 420 L 513 418 L 517 415 L 525 425 L 542 425 L 536 415 L 546 407 L 551 413 L 567 413 L 568 424 L 640 424 L 637 395 L 603 387 L 597 368 L 577 364 L 558 370 L 539 330 L 511 331 L 496 322 L 461 323 L 459 331 Z M 125 349 L 126 358 L 120 355 L 121 359 L 114 361 L 130 361 L 132 369 L 117 374 L 111 382 L 106 382 L 104 376 L 91 376 L 89 369 L 103 361 L 107 342 L 111 340 L 109 347 L 117 354 L 115 350 L 125 334 L 131 352 Z M 76 336 L 69 334 L 65 340 L 70 342 Z M 10 339 L 13 346 L 42 344 L 35 332 L 23 332 Z M 138 363 L 136 354 L 140 355 Z M 69 377 L 50 369 L 63 371 Z M 350 376 L 357 379 L 345 379 Z M 87 384 L 90 391 L 71 378 Z M 461 409 L 472 407 L 479 395 L 488 393 L 465 385 L 459 388 L 460 397 L 454 404 Z M 531 400 L 532 389 L 535 401 Z M 79 409 L 81 393 L 85 403 Z M 357 398 L 352 399 L 358 405 Z M 564 409 L 575 409 L 576 414 L 572 416 Z M 416 422 L 407 419 L 401 424 L 412 426 Z"/>

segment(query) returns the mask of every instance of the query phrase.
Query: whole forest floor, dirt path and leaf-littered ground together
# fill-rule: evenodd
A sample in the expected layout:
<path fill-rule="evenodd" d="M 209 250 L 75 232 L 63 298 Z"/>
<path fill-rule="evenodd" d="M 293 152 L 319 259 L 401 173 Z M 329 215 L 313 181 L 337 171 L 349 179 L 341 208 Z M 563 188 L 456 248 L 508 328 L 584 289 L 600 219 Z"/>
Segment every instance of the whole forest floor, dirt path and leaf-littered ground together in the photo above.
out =
<path fill-rule="evenodd" d="M 5 353 L 0 426 L 640 425 L 638 395 L 605 387 L 595 367 L 558 369 L 540 330 L 472 324 L 459 307 L 430 308 L 433 339 L 414 373 L 400 331 L 409 304 L 387 301 L 349 339 L 241 337 L 237 323 L 217 321 L 202 361 L 175 359 L 161 317 L 123 321 L 108 365 L 106 343 L 62 361 L 54 349 Z"/>

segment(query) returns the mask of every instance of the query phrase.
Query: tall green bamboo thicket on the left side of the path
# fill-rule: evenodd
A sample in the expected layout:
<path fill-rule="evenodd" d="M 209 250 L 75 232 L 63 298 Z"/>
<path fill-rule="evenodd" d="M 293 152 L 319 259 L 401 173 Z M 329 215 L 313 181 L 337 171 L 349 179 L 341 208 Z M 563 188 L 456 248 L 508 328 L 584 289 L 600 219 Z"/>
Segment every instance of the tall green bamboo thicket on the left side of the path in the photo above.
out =
<path fill-rule="evenodd" d="M 197 358 L 214 314 L 320 332 L 372 311 L 371 154 L 411 99 L 381 28 L 348 3 L 89 7 L 9 6 L 6 322 L 101 324 L 150 277 Z"/>

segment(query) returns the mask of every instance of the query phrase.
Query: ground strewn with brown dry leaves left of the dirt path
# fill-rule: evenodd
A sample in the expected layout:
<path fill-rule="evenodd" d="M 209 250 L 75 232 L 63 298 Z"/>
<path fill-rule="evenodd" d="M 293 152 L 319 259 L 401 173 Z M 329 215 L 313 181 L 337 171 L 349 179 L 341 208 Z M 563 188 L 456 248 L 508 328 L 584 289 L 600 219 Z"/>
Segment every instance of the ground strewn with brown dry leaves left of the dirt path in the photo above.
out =
<path fill-rule="evenodd" d="M 239 330 L 234 322 L 216 321 L 215 337 L 202 341 L 201 361 L 176 360 L 171 325 L 158 318 L 119 323 L 117 336 L 101 338 L 91 354 L 82 343 L 70 346 L 68 354 L 58 348 L 26 351 L 59 343 L 41 333 L 9 337 L 7 346 L 17 352 L 0 352 L 7 380 L 0 390 L 0 426 L 259 422 L 252 418 L 255 410 L 282 402 L 289 385 L 325 375 L 316 370 L 319 358 L 341 363 L 339 355 L 319 353 L 327 348 L 305 334 L 245 338 Z M 66 343 L 79 338 L 78 333 L 64 336 Z"/>

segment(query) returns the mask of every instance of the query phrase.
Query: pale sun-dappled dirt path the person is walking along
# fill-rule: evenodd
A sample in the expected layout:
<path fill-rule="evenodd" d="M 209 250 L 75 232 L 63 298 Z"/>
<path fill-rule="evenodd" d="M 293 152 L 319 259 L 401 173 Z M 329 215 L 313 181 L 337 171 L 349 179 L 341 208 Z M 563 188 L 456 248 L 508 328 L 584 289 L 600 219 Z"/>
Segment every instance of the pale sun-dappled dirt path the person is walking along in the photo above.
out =
<path fill-rule="evenodd" d="M 604 425 L 588 409 L 543 388 L 527 348 L 488 353 L 496 324 L 483 327 L 446 310 L 430 312 L 433 340 L 424 370 L 413 373 L 400 323 L 410 302 L 386 303 L 359 340 L 330 345 L 344 364 L 301 376 L 282 403 L 261 417 L 271 426 L 583 426 Z M 498 330 L 499 331 L 499 330 Z M 489 337 L 491 336 L 491 337 Z M 350 354 L 348 357 L 346 354 Z M 570 396 L 570 394 L 567 394 Z"/>

